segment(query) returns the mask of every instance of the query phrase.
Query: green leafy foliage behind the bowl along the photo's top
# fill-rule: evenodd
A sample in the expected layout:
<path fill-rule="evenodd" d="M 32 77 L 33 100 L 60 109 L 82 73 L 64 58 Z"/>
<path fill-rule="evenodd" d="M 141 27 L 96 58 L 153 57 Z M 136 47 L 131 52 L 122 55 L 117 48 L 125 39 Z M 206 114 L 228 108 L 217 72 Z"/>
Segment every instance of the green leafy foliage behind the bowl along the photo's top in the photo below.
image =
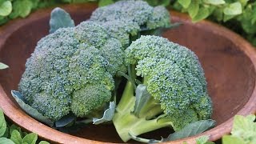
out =
<path fill-rule="evenodd" d="M 98 2 L 106 6 L 118 0 L 0 0 L 0 26 L 31 11 L 63 3 Z M 152 6 L 187 13 L 193 22 L 210 19 L 234 30 L 256 46 L 256 1 L 254 0 L 145 0 Z"/>

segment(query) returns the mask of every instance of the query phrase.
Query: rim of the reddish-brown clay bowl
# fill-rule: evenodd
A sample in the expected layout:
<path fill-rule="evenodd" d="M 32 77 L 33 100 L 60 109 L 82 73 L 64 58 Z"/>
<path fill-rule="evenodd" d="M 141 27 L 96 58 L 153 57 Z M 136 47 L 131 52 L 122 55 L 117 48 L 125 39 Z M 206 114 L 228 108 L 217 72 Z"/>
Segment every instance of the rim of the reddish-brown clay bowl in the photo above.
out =
<path fill-rule="evenodd" d="M 86 3 L 86 4 L 62 5 L 60 7 L 64 8 L 68 12 L 71 12 L 71 11 L 74 12 L 78 7 L 80 8 L 95 7 L 96 8 L 96 6 L 97 5 L 95 5 L 94 3 Z M 19 18 L 12 22 L 9 22 L 5 26 L 1 26 L 0 27 L 0 50 L 2 50 L 2 47 L 4 46 L 6 39 L 9 38 L 13 32 L 18 30 L 19 28 L 22 28 L 22 26 L 25 26 L 29 22 L 34 22 L 40 18 L 48 17 L 50 15 L 50 10 L 52 10 L 52 8 L 37 10 L 33 14 L 30 14 L 28 18 L 25 18 L 25 19 Z M 218 34 L 219 36 L 229 39 L 230 42 L 233 42 L 234 45 L 239 47 L 239 49 L 242 50 L 242 52 L 246 54 L 248 58 L 250 58 L 250 61 L 254 66 L 254 71 L 256 71 L 256 50 L 254 49 L 254 46 L 251 46 L 250 43 L 247 42 L 244 38 L 228 30 L 223 26 L 219 26 L 214 22 L 209 22 L 204 20 L 202 22 L 192 23 L 189 16 L 186 14 L 181 14 L 175 11 L 170 11 L 170 13 L 174 21 L 178 21 L 182 19 L 182 22 L 186 25 L 189 25 L 189 26 L 193 25 L 194 27 L 199 27 L 202 30 L 211 31 L 214 34 Z M 1 84 L 0 84 L 0 98 L 1 98 L 0 107 L 2 108 L 2 110 L 4 111 L 4 113 L 8 118 L 10 118 L 18 126 L 21 126 L 23 129 L 35 132 L 38 134 L 40 138 L 46 139 L 49 142 L 107 143 L 107 142 L 98 142 L 98 141 L 94 141 L 86 138 L 79 138 L 70 134 L 64 134 L 62 132 L 59 132 L 58 130 L 51 129 L 49 126 L 45 126 L 41 122 L 36 121 L 34 118 L 31 118 L 24 111 L 22 111 L 19 108 L 19 106 L 17 106 L 17 104 L 12 102 L 12 100 L 7 96 L 7 94 L 3 90 Z M 243 106 L 242 109 L 239 110 L 237 114 L 240 114 L 240 115 L 254 114 L 256 112 L 256 105 L 254 104 L 254 102 L 256 102 L 256 79 L 254 81 L 254 90 L 251 94 L 249 101 L 246 102 L 245 106 Z M 13 111 L 15 111 L 17 114 L 14 114 Z M 26 118 L 26 119 L 23 119 L 23 118 Z M 210 141 L 215 141 L 221 138 L 223 134 L 230 133 L 232 122 L 233 122 L 233 118 L 230 118 L 226 122 L 223 122 L 222 124 L 214 127 L 211 130 L 207 130 L 202 134 L 198 134 L 190 138 L 183 138 L 177 141 L 166 142 L 166 143 L 175 144 L 175 143 L 180 143 L 184 141 L 188 143 L 195 143 L 195 138 L 198 138 L 198 136 L 200 135 L 210 135 Z M 56 137 L 56 135 L 58 135 L 58 137 Z"/>

